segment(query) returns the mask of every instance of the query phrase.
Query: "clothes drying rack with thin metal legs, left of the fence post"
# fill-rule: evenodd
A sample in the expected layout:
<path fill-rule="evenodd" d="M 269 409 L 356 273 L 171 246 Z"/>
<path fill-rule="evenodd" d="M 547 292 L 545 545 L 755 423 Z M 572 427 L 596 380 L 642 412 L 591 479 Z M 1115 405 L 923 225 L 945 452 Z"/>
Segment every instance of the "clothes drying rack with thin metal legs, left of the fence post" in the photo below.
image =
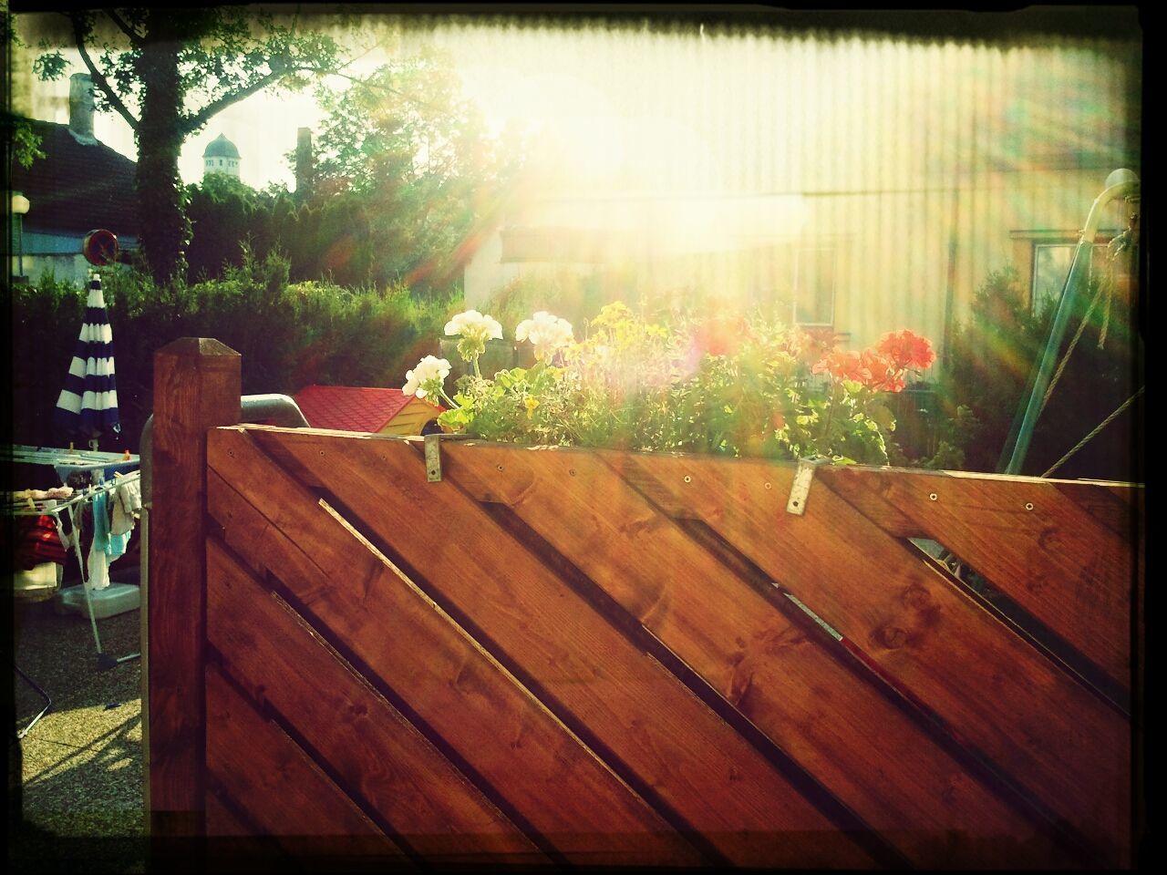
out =
<path fill-rule="evenodd" d="M 58 449 L 54 447 L 28 447 L 16 444 L 11 447 L 9 461 L 13 464 L 37 464 L 48 466 L 56 470 L 62 484 L 68 484 L 69 477 L 74 474 L 89 474 L 90 483 L 83 489 L 78 489 L 68 498 L 57 499 L 27 499 L 15 503 L 8 512 L 12 516 L 50 516 L 60 525 L 61 514 L 67 513 L 72 526 L 74 555 L 77 558 L 77 568 L 81 573 L 82 593 L 85 597 L 85 607 L 89 611 L 90 628 L 93 631 L 93 644 L 97 648 L 97 665 L 99 668 L 112 668 L 120 663 L 141 657 L 141 652 L 130 653 L 124 657 L 111 657 L 102 649 L 102 637 L 97 631 L 97 617 L 93 614 L 93 602 L 90 597 L 90 583 L 85 559 L 81 552 L 81 519 L 77 511 L 84 504 L 89 504 L 95 497 L 103 492 L 112 492 L 121 485 L 138 481 L 141 473 L 138 470 L 139 457 L 130 453 L 98 453 L 96 450 Z M 125 473 L 126 469 L 132 469 Z M 106 473 L 121 476 L 106 480 Z"/>

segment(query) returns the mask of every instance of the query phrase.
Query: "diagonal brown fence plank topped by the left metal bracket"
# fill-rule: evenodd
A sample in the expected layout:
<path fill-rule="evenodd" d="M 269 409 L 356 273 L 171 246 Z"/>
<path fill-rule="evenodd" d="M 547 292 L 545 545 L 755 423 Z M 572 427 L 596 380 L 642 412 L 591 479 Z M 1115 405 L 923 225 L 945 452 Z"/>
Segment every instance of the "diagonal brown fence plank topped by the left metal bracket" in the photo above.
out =
<path fill-rule="evenodd" d="M 454 485 L 454 456 L 443 482 L 428 483 L 405 442 L 253 436 L 319 459 L 344 506 L 732 862 L 873 863 L 843 836 L 825 840 L 831 821 L 770 763 Z"/>

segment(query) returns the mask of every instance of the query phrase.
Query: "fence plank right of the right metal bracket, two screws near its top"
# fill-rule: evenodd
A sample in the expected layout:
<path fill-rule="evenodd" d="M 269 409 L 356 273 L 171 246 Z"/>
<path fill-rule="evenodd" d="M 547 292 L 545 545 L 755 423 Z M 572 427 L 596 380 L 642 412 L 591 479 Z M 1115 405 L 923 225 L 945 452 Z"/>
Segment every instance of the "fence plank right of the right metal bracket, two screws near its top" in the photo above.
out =
<path fill-rule="evenodd" d="M 1067 495 L 1090 487 L 851 466 L 818 474 L 875 525 L 943 544 L 1130 688 L 1133 552 Z"/>

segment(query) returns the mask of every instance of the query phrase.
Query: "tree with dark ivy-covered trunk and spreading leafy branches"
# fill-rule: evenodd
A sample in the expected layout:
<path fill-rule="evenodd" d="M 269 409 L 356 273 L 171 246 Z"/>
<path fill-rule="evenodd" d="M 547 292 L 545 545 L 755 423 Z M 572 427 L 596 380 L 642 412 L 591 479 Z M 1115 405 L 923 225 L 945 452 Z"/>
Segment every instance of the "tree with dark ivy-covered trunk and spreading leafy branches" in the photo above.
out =
<path fill-rule="evenodd" d="M 98 108 L 117 112 L 134 131 L 141 246 L 151 273 L 158 282 L 181 278 L 190 240 L 179 176 L 182 144 L 251 94 L 299 90 L 310 75 L 335 72 L 341 51 L 330 36 L 298 32 L 295 19 L 285 23 L 238 7 L 63 14 Z M 61 51 L 49 52 L 37 58 L 36 71 L 55 79 L 67 64 Z"/>

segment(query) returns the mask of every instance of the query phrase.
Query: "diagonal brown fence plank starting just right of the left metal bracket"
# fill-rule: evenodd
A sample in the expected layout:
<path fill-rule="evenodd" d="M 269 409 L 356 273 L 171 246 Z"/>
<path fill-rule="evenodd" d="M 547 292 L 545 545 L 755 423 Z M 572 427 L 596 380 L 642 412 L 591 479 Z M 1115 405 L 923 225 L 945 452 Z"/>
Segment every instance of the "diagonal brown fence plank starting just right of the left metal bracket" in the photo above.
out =
<path fill-rule="evenodd" d="M 1034 821 L 971 777 L 598 454 L 484 444 L 442 452 L 443 478 L 510 505 L 914 863 L 1072 864 Z M 379 457 L 387 464 L 389 455 Z M 373 467 L 372 459 L 361 463 Z M 398 471 L 394 482 L 404 476 Z M 434 485 L 422 484 L 411 508 L 425 496 L 438 502 Z"/>

